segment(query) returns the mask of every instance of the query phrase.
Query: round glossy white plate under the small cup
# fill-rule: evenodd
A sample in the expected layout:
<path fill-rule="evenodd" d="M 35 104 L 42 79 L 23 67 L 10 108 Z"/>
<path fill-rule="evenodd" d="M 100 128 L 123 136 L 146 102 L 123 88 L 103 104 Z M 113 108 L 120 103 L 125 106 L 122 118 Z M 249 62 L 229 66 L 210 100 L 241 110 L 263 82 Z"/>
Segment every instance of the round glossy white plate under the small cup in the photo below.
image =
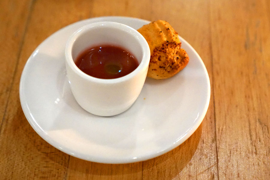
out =
<path fill-rule="evenodd" d="M 190 57 L 184 70 L 165 80 L 146 78 L 140 96 L 122 114 L 92 115 L 76 103 L 70 91 L 64 49 L 73 32 L 98 21 L 120 22 L 134 29 L 149 23 L 129 17 L 92 18 L 47 38 L 22 72 L 19 93 L 26 119 L 49 144 L 87 161 L 131 163 L 176 148 L 199 127 L 209 105 L 210 81 L 202 59 L 180 37 Z"/>

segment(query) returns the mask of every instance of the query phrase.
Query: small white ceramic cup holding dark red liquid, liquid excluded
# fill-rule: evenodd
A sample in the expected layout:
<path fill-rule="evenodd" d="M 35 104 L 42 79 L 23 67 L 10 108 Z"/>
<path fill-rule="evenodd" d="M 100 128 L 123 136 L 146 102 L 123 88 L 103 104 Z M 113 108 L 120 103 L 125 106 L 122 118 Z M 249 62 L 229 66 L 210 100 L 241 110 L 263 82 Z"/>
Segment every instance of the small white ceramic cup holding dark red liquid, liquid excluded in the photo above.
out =
<path fill-rule="evenodd" d="M 74 63 L 89 47 L 115 45 L 128 50 L 139 61 L 131 73 L 116 79 L 100 79 L 82 72 Z M 135 29 L 117 22 L 96 22 L 78 29 L 65 48 L 67 77 L 78 104 L 89 113 L 113 116 L 127 110 L 139 96 L 146 79 L 150 49 Z"/>

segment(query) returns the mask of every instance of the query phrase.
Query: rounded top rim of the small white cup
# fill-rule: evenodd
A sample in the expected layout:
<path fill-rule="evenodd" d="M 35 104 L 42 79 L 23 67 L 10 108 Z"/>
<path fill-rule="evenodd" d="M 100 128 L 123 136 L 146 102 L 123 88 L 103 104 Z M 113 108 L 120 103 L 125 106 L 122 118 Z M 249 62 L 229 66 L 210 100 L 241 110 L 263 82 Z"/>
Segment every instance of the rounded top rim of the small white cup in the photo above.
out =
<path fill-rule="evenodd" d="M 136 37 L 134 38 L 138 39 L 138 42 L 140 43 L 142 47 L 142 51 L 143 51 L 142 61 L 140 62 L 139 66 L 135 70 L 133 70 L 131 73 L 125 76 L 119 77 L 119 78 L 114 78 L 114 79 L 101 79 L 101 78 L 93 77 L 84 73 L 82 70 L 80 70 L 79 67 L 76 66 L 72 58 L 71 52 L 72 52 L 73 44 L 76 41 L 76 39 L 80 35 L 82 35 L 84 32 L 89 31 L 90 29 L 96 28 L 96 27 L 115 28 L 118 30 L 122 30 L 125 32 L 132 32 L 133 34 L 135 34 Z M 150 61 L 150 48 L 146 39 L 143 37 L 143 35 L 141 35 L 136 29 L 133 29 L 130 26 L 127 26 L 119 22 L 111 22 L 111 21 L 94 22 L 94 23 L 82 26 L 70 36 L 65 46 L 65 59 L 69 67 L 80 77 L 90 80 L 92 82 L 98 82 L 98 83 L 103 83 L 103 84 L 113 84 L 113 83 L 124 82 L 128 79 L 131 79 L 134 76 L 136 76 L 138 73 L 140 73 L 140 71 L 143 71 L 144 68 L 147 68 L 149 66 L 149 61 Z"/>

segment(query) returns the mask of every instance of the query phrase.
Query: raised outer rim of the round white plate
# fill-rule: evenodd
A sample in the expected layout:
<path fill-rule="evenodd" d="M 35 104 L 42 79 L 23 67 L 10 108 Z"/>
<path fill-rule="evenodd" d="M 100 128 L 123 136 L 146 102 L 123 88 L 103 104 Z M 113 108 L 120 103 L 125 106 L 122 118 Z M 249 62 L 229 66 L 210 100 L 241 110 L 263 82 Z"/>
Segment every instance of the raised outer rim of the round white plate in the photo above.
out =
<path fill-rule="evenodd" d="M 150 21 L 148 20 L 145 20 L 145 19 L 140 19 L 140 18 L 135 18 L 135 17 L 127 17 L 127 16 L 101 16 L 101 17 L 94 17 L 94 18 L 89 18 L 89 19 L 83 19 L 83 20 L 80 20 L 80 21 L 77 21 L 77 22 L 74 22 L 72 24 L 69 24 L 61 29 L 59 29 L 58 31 L 54 32 L 52 35 L 50 35 L 49 37 L 47 37 L 44 41 L 41 42 L 41 44 L 39 44 L 36 49 L 32 52 L 32 54 L 29 56 L 29 58 L 27 59 L 26 61 L 26 64 L 24 65 L 23 67 L 23 70 L 22 70 L 22 73 L 21 73 L 21 77 L 20 77 L 20 82 L 19 82 L 19 99 L 20 99 L 20 104 L 21 104 L 21 107 L 22 107 L 22 111 L 27 119 L 27 121 L 29 122 L 29 124 L 31 125 L 31 127 L 35 130 L 35 132 L 42 138 L 44 139 L 47 143 L 49 143 L 51 146 L 55 147 L 56 149 L 68 154 L 68 155 L 71 155 L 73 157 L 76 157 L 76 158 L 80 158 L 80 159 L 83 159 L 83 160 L 86 160 L 86 161 L 92 161 L 92 162 L 97 162 L 97 163 L 104 163 L 104 164 L 126 164 L 126 163 L 135 163 L 135 162 L 140 162 L 140 161 L 146 161 L 148 159 L 152 159 L 152 158 L 155 158 L 155 157 L 158 157 L 160 155 L 163 155 L 169 151 L 171 151 L 172 149 L 175 149 L 176 147 L 178 147 L 179 145 L 181 145 L 182 143 L 184 143 L 196 130 L 197 128 L 199 127 L 199 125 L 201 125 L 202 123 L 202 120 L 204 119 L 206 113 L 207 113 L 207 110 L 208 110 L 208 107 L 209 107 L 209 103 L 210 103 L 210 96 L 211 96 L 211 85 L 210 85 L 210 78 L 209 78 L 209 75 L 208 75 L 208 72 L 207 72 L 207 69 L 205 67 L 205 64 L 203 63 L 201 57 L 199 56 L 199 54 L 196 52 L 196 50 L 186 41 L 184 40 L 181 36 L 179 36 L 181 42 L 184 42 L 185 44 L 187 44 L 187 46 L 189 46 L 193 52 L 195 53 L 196 57 L 199 59 L 199 62 L 200 64 L 202 65 L 203 67 L 203 70 L 204 70 L 204 73 L 205 73 L 205 77 L 207 78 L 206 81 L 207 81 L 207 98 L 206 98 L 206 102 L 204 104 L 204 107 L 203 107 L 203 110 L 202 110 L 202 114 L 200 115 L 200 118 L 198 118 L 198 122 L 192 126 L 192 128 L 188 129 L 187 131 L 187 134 L 181 138 L 181 140 L 179 141 L 176 141 L 174 144 L 172 144 L 172 146 L 170 146 L 169 148 L 167 149 L 164 149 L 163 151 L 160 151 L 160 152 L 157 152 L 157 153 L 152 153 L 151 155 L 143 155 L 143 156 L 140 156 L 140 157 L 137 157 L 136 159 L 121 159 L 121 160 L 107 160 L 107 159 L 102 159 L 102 158 L 85 158 L 81 153 L 77 153 L 76 155 L 73 153 L 72 150 L 69 150 L 68 151 L 68 148 L 61 148 L 60 146 L 57 145 L 57 142 L 56 141 L 52 141 L 50 138 L 47 138 L 46 136 L 46 132 L 44 131 L 40 131 L 40 129 L 42 130 L 42 128 L 38 125 L 38 123 L 34 123 L 35 122 L 35 118 L 31 115 L 31 113 L 28 111 L 28 108 L 27 108 L 27 104 L 26 104 L 26 99 L 25 97 L 22 96 L 22 92 L 23 92 L 23 80 L 26 79 L 25 76 L 26 76 L 26 68 L 28 67 L 28 64 L 29 62 L 31 61 L 33 55 L 36 53 L 36 51 L 39 49 L 39 47 L 42 45 L 42 44 L 45 44 L 46 41 L 48 41 L 48 39 L 55 35 L 56 33 L 60 32 L 61 30 L 63 29 L 66 29 L 70 26 L 74 26 L 76 24 L 79 24 L 81 22 L 85 22 L 85 21 L 91 21 L 91 20 L 99 20 L 99 19 L 106 19 L 106 18 L 111 18 L 111 19 L 116 19 L 116 18 L 119 18 L 119 19 L 136 19 L 136 20 L 139 20 L 139 21 L 144 21 L 145 23 L 149 23 Z M 38 126 L 38 127 L 37 127 Z M 40 129 L 39 129 L 40 128 Z"/>

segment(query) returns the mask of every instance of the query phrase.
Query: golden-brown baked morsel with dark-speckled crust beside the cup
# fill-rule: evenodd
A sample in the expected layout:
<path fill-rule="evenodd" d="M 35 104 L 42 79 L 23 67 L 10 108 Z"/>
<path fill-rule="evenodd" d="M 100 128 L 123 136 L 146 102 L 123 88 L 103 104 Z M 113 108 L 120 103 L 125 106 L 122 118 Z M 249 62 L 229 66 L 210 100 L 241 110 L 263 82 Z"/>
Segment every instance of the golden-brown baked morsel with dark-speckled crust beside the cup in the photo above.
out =
<path fill-rule="evenodd" d="M 147 76 L 154 79 L 166 79 L 174 76 L 186 67 L 189 57 L 177 32 L 166 21 L 150 22 L 138 29 L 146 39 L 151 52 Z"/>

